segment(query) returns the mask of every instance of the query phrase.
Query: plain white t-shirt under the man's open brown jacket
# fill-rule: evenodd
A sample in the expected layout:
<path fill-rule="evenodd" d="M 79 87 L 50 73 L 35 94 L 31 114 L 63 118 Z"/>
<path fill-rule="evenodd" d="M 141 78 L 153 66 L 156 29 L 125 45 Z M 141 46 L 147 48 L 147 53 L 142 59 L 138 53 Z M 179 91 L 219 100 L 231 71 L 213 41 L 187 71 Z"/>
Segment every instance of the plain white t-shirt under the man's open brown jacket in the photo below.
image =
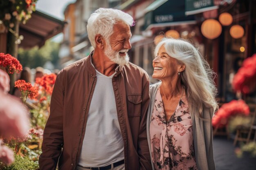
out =
<path fill-rule="evenodd" d="M 114 75 L 108 77 L 96 70 L 97 82 L 78 162 L 80 166 L 102 167 L 124 159 L 124 141 L 112 86 Z"/>

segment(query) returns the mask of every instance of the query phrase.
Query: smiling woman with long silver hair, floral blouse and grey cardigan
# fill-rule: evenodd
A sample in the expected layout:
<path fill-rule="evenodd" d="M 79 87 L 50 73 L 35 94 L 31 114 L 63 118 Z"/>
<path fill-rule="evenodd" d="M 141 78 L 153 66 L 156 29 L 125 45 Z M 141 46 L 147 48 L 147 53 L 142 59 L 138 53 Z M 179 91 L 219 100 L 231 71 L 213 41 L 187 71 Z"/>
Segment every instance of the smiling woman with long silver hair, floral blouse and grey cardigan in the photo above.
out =
<path fill-rule="evenodd" d="M 218 108 L 214 73 L 185 40 L 155 48 L 147 132 L 155 170 L 215 170 L 211 119 Z"/>

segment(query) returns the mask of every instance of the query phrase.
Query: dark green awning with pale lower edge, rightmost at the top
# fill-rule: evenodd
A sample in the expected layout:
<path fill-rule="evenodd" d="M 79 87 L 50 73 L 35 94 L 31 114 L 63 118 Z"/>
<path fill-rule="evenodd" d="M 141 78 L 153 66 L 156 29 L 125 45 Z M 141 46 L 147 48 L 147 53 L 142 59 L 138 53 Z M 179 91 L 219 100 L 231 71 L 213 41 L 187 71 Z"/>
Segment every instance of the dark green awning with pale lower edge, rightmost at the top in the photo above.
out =
<path fill-rule="evenodd" d="M 218 8 L 214 5 L 214 0 L 186 0 L 185 14 L 193 15 Z"/>

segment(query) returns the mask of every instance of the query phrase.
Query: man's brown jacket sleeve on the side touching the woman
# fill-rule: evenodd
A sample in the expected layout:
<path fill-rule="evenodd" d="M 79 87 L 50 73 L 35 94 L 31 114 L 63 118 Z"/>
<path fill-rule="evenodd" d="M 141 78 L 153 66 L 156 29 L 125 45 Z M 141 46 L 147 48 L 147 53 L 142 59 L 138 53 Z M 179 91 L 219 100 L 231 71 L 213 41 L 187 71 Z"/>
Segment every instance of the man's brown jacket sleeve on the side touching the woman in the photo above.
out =
<path fill-rule="evenodd" d="M 148 140 L 146 133 L 146 119 L 148 104 L 150 102 L 149 97 L 149 78 L 144 76 L 144 87 L 142 91 L 142 103 L 141 103 L 141 120 L 139 125 L 139 137 L 137 153 L 139 155 L 140 170 L 152 170 L 150 153 L 148 148 Z"/>

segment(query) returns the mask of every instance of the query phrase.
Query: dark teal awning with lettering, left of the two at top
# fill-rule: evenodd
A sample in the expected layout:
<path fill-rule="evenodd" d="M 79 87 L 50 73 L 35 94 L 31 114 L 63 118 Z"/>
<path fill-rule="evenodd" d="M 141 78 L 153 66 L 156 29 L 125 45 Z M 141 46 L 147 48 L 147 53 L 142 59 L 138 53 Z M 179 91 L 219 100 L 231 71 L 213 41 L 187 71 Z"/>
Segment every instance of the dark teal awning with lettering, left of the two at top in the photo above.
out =
<path fill-rule="evenodd" d="M 185 15 L 185 0 L 156 0 L 145 9 L 145 30 L 153 28 L 156 24 L 168 23 L 176 25 L 193 21 L 194 16 Z"/>

